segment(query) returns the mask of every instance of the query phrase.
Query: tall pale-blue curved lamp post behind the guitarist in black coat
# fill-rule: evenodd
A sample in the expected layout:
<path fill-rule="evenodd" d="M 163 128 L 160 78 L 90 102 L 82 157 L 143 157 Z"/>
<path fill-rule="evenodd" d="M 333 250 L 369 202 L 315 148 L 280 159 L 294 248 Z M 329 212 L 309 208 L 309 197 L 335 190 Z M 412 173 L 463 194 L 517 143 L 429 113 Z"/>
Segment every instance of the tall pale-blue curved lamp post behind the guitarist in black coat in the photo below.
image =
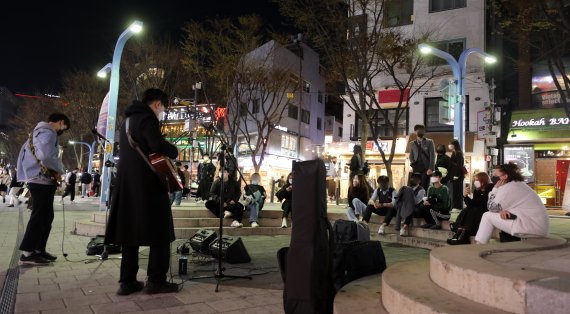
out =
<path fill-rule="evenodd" d="M 105 137 L 108 142 L 105 144 L 105 158 L 106 160 L 111 160 L 113 158 L 113 144 L 115 143 L 115 126 L 117 124 L 117 101 L 119 98 L 119 68 L 121 65 L 121 55 L 123 54 L 123 48 L 125 43 L 134 34 L 140 33 L 142 30 L 143 23 L 140 21 L 135 21 L 129 26 L 123 33 L 119 36 L 117 44 L 115 45 L 115 50 L 113 52 L 113 61 L 111 62 L 111 79 L 109 82 L 109 105 L 107 110 L 107 122 Z M 101 73 L 101 71 L 99 71 Z M 106 202 L 108 200 L 109 193 L 109 183 L 110 183 L 110 171 L 109 167 L 103 168 L 103 175 L 101 179 L 101 199 L 99 201 L 99 209 L 104 210 Z"/>

